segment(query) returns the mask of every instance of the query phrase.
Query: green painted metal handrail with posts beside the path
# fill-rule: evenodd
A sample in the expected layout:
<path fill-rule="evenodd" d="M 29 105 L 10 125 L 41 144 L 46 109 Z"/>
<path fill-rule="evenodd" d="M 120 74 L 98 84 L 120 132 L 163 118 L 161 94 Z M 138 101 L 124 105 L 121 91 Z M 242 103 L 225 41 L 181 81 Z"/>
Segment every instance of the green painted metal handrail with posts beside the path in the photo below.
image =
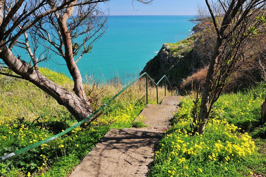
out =
<path fill-rule="evenodd" d="M 77 128 L 78 126 L 80 126 L 81 124 L 85 123 L 87 120 L 89 120 L 90 118 L 92 118 L 94 115 L 96 115 L 98 112 L 100 112 L 104 107 L 106 107 L 111 101 L 113 101 L 113 99 L 115 99 L 118 95 L 120 95 L 123 91 L 125 91 L 129 86 L 131 86 L 134 82 L 136 82 L 138 79 L 140 79 L 141 77 L 143 77 L 144 75 L 146 75 L 146 104 L 148 104 L 148 78 L 151 79 L 151 81 L 156 85 L 156 91 L 157 91 L 157 104 L 158 104 L 158 84 L 159 82 L 165 78 L 165 96 L 166 96 L 166 79 L 169 82 L 168 78 L 166 77 L 166 75 L 164 75 L 159 82 L 155 83 L 155 81 L 153 81 L 153 79 L 145 72 L 142 75 L 140 75 L 138 78 L 136 78 L 134 81 L 132 81 L 129 85 L 127 85 L 124 89 L 122 89 L 120 92 L 118 92 L 113 98 L 111 98 L 110 100 L 108 100 L 105 104 L 103 104 L 98 110 L 96 110 L 95 112 L 93 112 L 90 116 L 88 116 L 87 118 L 81 120 L 80 122 L 74 124 L 73 126 L 69 127 L 68 129 L 60 132 L 59 134 L 53 135 L 50 138 L 44 139 L 42 141 L 39 141 L 35 144 L 32 144 L 30 146 L 24 147 L 18 151 L 12 152 L 10 154 L 7 154 L 5 156 L 2 156 L 2 158 L 0 159 L 0 163 L 4 162 L 8 159 L 14 158 L 24 152 L 27 152 L 33 148 L 39 147 L 42 144 L 48 143 L 56 138 L 59 138 L 60 136 L 65 135 L 66 133 L 72 131 L 74 128 Z M 171 83 L 169 82 L 170 86 Z M 171 86 L 172 89 L 172 95 L 173 95 L 173 87 Z"/>

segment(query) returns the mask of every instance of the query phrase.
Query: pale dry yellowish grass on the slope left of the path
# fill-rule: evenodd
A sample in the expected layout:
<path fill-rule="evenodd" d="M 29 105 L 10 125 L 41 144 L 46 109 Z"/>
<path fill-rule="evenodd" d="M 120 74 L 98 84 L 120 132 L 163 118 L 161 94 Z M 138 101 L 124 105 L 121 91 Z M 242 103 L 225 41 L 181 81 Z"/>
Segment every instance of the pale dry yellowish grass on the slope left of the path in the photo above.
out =
<path fill-rule="evenodd" d="M 65 75 L 52 72 L 48 69 L 41 69 L 41 72 L 54 82 L 68 90 L 72 90 L 73 81 Z M 95 83 L 94 86 L 85 85 L 85 91 L 93 102 L 94 110 L 96 110 L 122 90 L 123 87 L 119 82 L 105 85 Z M 0 76 L 0 89 L 0 123 L 1 120 L 3 123 L 14 119 L 32 121 L 44 116 L 55 118 L 69 116 L 68 110 L 65 107 L 60 106 L 55 99 L 28 81 Z M 171 92 L 167 91 L 167 95 L 170 94 Z M 120 94 L 113 102 L 119 103 L 120 106 L 137 103 L 145 104 L 145 95 L 146 80 L 142 78 Z M 158 88 L 158 95 L 161 102 L 164 97 L 164 88 Z M 148 100 L 149 103 L 156 104 L 156 87 L 150 84 Z"/>

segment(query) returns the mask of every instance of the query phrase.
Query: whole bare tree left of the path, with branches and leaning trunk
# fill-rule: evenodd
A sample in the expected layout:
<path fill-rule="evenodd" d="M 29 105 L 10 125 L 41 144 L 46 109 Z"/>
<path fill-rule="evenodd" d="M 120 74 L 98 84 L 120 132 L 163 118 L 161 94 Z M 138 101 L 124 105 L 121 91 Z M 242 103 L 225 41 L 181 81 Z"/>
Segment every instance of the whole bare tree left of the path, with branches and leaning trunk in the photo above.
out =
<path fill-rule="evenodd" d="M 98 4 L 107 1 L 0 0 L 0 74 L 32 82 L 65 106 L 77 121 L 91 115 L 76 63 L 104 33 L 106 16 Z M 35 55 L 39 45 L 45 48 L 44 58 Z M 16 56 L 14 46 L 25 49 L 30 60 Z M 73 92 L 40 73 L 38 63 L 49 59 L 49 51 L 64 58 L 74 81 Z"/>

